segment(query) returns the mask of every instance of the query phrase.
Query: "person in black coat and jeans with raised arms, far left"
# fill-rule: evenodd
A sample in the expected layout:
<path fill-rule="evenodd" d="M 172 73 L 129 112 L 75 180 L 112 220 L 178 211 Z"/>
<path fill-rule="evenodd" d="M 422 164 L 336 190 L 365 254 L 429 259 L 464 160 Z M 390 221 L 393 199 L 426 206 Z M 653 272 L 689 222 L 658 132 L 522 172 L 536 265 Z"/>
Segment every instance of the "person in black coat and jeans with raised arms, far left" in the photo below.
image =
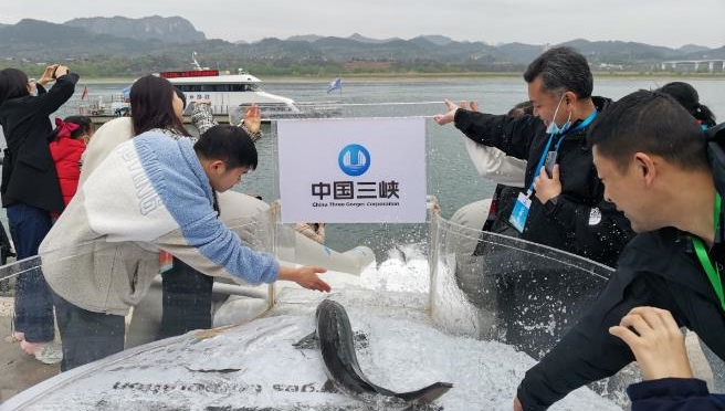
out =
<path fill-rule="evenodd" d="M 55 84 L 46 92 L 43 85 L 53 80 Z M 0 71 L 0 126 L 8 146 L 0 196 L 18 260 L 38 254 L 51 229 L 50 211 L 64 208 L 48 136 L 53 131 L 50 115 L 73 96 L 77 82 L 78 75 L 67 66 L 49 65 L 34 96 L 25 73 Z M 54 339 L 53 302 L 40 268 L 18 276 L 13 326 L 13 336 L 25 352 L 44 362 L 60 360 L 60 350 L 50 345 Z"/>

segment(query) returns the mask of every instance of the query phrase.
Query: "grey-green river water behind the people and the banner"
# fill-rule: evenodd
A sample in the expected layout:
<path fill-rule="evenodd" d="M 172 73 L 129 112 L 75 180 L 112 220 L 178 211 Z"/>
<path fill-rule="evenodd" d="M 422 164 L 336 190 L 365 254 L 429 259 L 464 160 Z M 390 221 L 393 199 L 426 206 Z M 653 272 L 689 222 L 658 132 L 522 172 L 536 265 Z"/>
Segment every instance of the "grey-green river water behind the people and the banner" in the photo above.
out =
<path fill-rule="evenodd" d="M 675 80 L 691 83 L 703 104 L 716 115 L 725 116 L 725 78 L 603 77 L 596 78 L 593 94 L 618 99 L 635 89 L 656 88 Z M 87 86 L 91 96 L 109 95 L 126 85 L 82 81 L 76 91 Z M 516 103 L 527 99 L 526 84 L 521 77 L 343 80 L 342 93 L 335 91 L 330 94 L 326 94 L 325 81 L 276 81 L 265 83 L 263 88 L 297 102 L 339 102 L 344 117 L 427 117 L 428 192 L 437 197 L 444 218 L 450 218 L 462 205 L 490 197 L 495 185 L 475 172 L 463 146 L 463 135 L 452 125 L 438 126 L 430 117 L 442 113 L 444 98 L 454 102 L 474 99 L 487 113 L 506 113 Z M 61 110 L 59 114 L 70 113 Z M 275 136 L 273 125 L 265 125 L 263 129 L 265 138 L 258 143 L 260 167 L 235 189 L 261 194 L 269 201 L 277 197 Z M 4 145 L 4 140 L 1 144 Z M 424 243 L 425 235 L 425 226 L 418 224 L 329 224 L 326 243 L 337 251 L 365 244 L 376 251 L 378 261 L 383 261 L 401 245 Z"/>

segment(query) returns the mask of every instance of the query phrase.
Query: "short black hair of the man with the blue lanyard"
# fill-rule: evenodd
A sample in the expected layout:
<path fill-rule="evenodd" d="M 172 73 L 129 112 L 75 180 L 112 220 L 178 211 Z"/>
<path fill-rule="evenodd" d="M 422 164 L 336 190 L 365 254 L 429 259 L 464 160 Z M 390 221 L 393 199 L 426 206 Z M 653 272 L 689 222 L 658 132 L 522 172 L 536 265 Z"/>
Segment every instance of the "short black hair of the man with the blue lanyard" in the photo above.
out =
<path fill-rule="evenodd" d="M 571 48 L 549 49 L 536 57 L 524 72 L 524 80 L 532 83 L 538 76 L 544 92 L 574 92 L 579 98 L 591 97 L 595 81 L 589 63 Z"/>

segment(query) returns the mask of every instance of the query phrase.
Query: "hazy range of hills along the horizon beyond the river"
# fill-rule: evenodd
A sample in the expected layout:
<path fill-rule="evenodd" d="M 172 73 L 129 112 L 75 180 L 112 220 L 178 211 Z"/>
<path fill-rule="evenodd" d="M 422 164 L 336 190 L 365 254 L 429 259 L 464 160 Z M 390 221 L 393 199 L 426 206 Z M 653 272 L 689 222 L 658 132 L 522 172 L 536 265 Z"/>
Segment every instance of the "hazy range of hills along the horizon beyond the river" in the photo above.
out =
<path fill-rule="evenodd" d="M 670 49 L 637 42 L 571 40 L 595 67 L 660 70 L 665 60 L 725 59 L 725 46 Z M 0 63 L 35 70 L 46 62 L 73 61 L 84 75 L 139 75 L 189 67 L 191 52 L 202 65 L 255 74 L 340 75 L 344 73 L 521 72 L 547 45 L 455 41 L 444 35 L 410 40 L 294 35 L 235 43 L 206 35 L 179 17 L 90 18 L 54 24 L 25 19 L 0 24 Z M 553 45 L 551 45 L 553 46 Z M 703 66 L 701 66 L 702 68 Z"/>

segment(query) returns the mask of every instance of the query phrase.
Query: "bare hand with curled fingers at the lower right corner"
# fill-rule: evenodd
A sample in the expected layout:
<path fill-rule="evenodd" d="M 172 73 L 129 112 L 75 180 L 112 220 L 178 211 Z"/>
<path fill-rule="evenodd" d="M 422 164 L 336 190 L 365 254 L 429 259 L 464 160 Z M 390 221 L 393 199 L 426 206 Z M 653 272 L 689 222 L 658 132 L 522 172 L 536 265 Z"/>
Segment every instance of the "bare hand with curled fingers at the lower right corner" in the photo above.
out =
<path fill-rule="evenodd" d="M 692 378 L 685 337 L 666 309 L 632 308 L 609 334 L 627 342 L 645 380 Z"/>

